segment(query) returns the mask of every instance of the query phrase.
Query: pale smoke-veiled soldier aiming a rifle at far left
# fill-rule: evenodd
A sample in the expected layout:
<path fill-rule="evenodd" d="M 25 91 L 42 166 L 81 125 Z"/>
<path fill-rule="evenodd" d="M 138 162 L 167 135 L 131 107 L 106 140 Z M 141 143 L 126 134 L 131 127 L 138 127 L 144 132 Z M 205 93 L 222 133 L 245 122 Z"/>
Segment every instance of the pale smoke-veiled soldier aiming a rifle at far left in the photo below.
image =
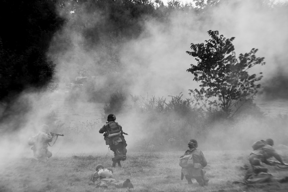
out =
<path fill-rule="evenodd" d="M 48 158 L 52 157 L 52 153 L 48 151 L 48 143 L 52 141 L 52 138 L 47 125 L 42 125 L 39 132 L 29 138 L 28 144 L 33 145 L 31 149 L 35 159 L 46 162 Z"/>

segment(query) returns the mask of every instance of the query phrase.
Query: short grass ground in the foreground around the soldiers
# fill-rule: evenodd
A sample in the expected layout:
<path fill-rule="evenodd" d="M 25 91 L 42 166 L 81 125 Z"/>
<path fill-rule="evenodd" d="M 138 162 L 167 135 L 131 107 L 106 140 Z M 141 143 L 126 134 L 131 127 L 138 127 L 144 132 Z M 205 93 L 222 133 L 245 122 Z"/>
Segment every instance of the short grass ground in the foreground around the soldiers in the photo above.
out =
<path fill-rule="evenodd" d="M 193 180 L 192 185 L 180 180 L 178 158 L 183 151 L 172 152 L 130 152 L 122 161 L 122 168 L 113 168 L 119 181 L 130 178 L 134 185 L 131 191 L 287 191 L 288 184 L 270 184 L 247 187 L 234 185 L 233 181 L 242 180 L 245 172 L 240 166 L 248 163 L 249 151 L 203 151 L 208 165 L 206 175 L 209 185 L 200 187 Z M 104 191 L 88 185 L 88 178 L 97 164 L 111 167 L 112 153 L 97 155 L 84 153 L 68 157 L 52 157 L 47 164 L 35 162 L 30 158 L 14 159 L 5 165 L 0 174 L 2 192 L 41 192 L 41 191 Z M 288 159 L 287 156 L 284 158 Z M 275 176 L 288 175 L 288 170 L 269 167 Z M 264 187 L 263 187 L 264 186 Z M 108 188 L 105 191 L 128 191 L 127 189 Z"/>

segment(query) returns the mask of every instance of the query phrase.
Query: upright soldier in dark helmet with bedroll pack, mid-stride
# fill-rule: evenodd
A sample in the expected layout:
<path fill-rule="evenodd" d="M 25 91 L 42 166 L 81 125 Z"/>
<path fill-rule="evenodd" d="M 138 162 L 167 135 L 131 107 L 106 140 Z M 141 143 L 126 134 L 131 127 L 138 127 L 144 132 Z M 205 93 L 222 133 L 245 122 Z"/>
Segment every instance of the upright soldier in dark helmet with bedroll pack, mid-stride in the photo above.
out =
<path fill-rule="evenodd" d="M 109 145 L 110 149 L 114 152 L 114 158 L 112 158 L 112 167 L 116 166 L 116 162 L 118 163 L 118 167 L 121 167 L 120 161 L 126 160 L 126 141 L 123 136 L 122 126 L 115 122 L 116 116 L 113 114 L 109 114 L 107 117 L 107 121 L 105 125 L 99 130 L 99 133 L 104 133 L 104 139 L 106 141 L 106 145 Z"/>

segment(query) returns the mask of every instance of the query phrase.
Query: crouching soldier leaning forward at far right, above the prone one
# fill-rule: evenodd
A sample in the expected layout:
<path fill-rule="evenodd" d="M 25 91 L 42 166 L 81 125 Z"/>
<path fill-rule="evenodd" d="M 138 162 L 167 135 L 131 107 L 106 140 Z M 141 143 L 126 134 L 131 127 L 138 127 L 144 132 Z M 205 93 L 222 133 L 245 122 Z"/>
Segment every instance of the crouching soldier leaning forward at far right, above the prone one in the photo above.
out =
<path fill-rule="evenodd" d="M 274 166 L 275 164 L 270 162 L 268 159 L 270 157 L 275 157 L 275 159 L 284 165 L 281 156 L 275 151 L 273 145 L 274 141 L 272 139 L 267 139 L 266 141 L 261 140 L 253 143 L 252 148 L 254 151 L 249 155 L 250 164 L 253 166 L 257 161 L 259 161 L 259 163 L 263 162 L 267 165 Z"/>

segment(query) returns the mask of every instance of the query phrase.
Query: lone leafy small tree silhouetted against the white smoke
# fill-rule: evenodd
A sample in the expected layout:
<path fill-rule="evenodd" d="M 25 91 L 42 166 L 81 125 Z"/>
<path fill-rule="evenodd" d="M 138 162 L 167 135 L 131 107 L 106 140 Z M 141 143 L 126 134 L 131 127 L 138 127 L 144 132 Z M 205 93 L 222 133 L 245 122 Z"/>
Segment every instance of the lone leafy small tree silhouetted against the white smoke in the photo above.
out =
<path fill-rule="evenodd" d="M 197 61 L 187 72 L 194 75 L 194 81 L 200 82 L 200 89 L 189 90 L 189 94 L 193 94 L 197 102 L 206 99 L 210 106 L 222 109 L 227 116 L 234 109 L 233 116 L 245 102 L 253 100 L 261 87 L 255 82 L 262 79 L 262 73 L 249 75 L 248 71 L 257 64 L 264 65 L 264 57 L 256 57 L 257 49 L 253 48 L 236 58 L 234 37 L 226 39 L 211 30 L 208 34 L 212 39 L 205 40 L 205 45 L 191 43 L 192 51 L 186 51 Z"/>

